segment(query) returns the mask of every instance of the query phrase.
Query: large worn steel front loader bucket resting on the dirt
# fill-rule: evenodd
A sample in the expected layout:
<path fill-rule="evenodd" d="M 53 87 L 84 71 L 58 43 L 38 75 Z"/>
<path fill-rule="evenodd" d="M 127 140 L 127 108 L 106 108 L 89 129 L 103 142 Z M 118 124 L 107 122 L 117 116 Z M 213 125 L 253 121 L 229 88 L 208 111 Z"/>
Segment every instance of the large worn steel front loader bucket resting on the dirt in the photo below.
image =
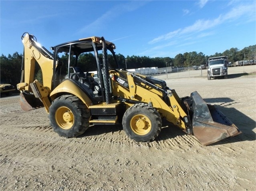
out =
<path fill-rule="evenodd" d="M 242 133 L 218 108 L 206 104 L 197 91 L 191 93 L 191 97 L 194 101 L 191 108 L 194 136 L 204 146 Z"/>

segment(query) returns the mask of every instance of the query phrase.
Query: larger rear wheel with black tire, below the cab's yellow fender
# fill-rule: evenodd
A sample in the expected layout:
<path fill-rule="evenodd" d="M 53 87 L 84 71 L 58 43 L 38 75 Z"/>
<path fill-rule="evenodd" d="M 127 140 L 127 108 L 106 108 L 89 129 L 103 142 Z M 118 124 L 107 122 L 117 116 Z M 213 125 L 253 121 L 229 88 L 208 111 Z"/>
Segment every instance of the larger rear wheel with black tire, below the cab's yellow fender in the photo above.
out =
<path fill-rule="evenodd" d="M 59 136 L 77 137 L 89 128 L 90 110 L 77 96 L 63 95 L 52 102 L 49 118 Z"/>

